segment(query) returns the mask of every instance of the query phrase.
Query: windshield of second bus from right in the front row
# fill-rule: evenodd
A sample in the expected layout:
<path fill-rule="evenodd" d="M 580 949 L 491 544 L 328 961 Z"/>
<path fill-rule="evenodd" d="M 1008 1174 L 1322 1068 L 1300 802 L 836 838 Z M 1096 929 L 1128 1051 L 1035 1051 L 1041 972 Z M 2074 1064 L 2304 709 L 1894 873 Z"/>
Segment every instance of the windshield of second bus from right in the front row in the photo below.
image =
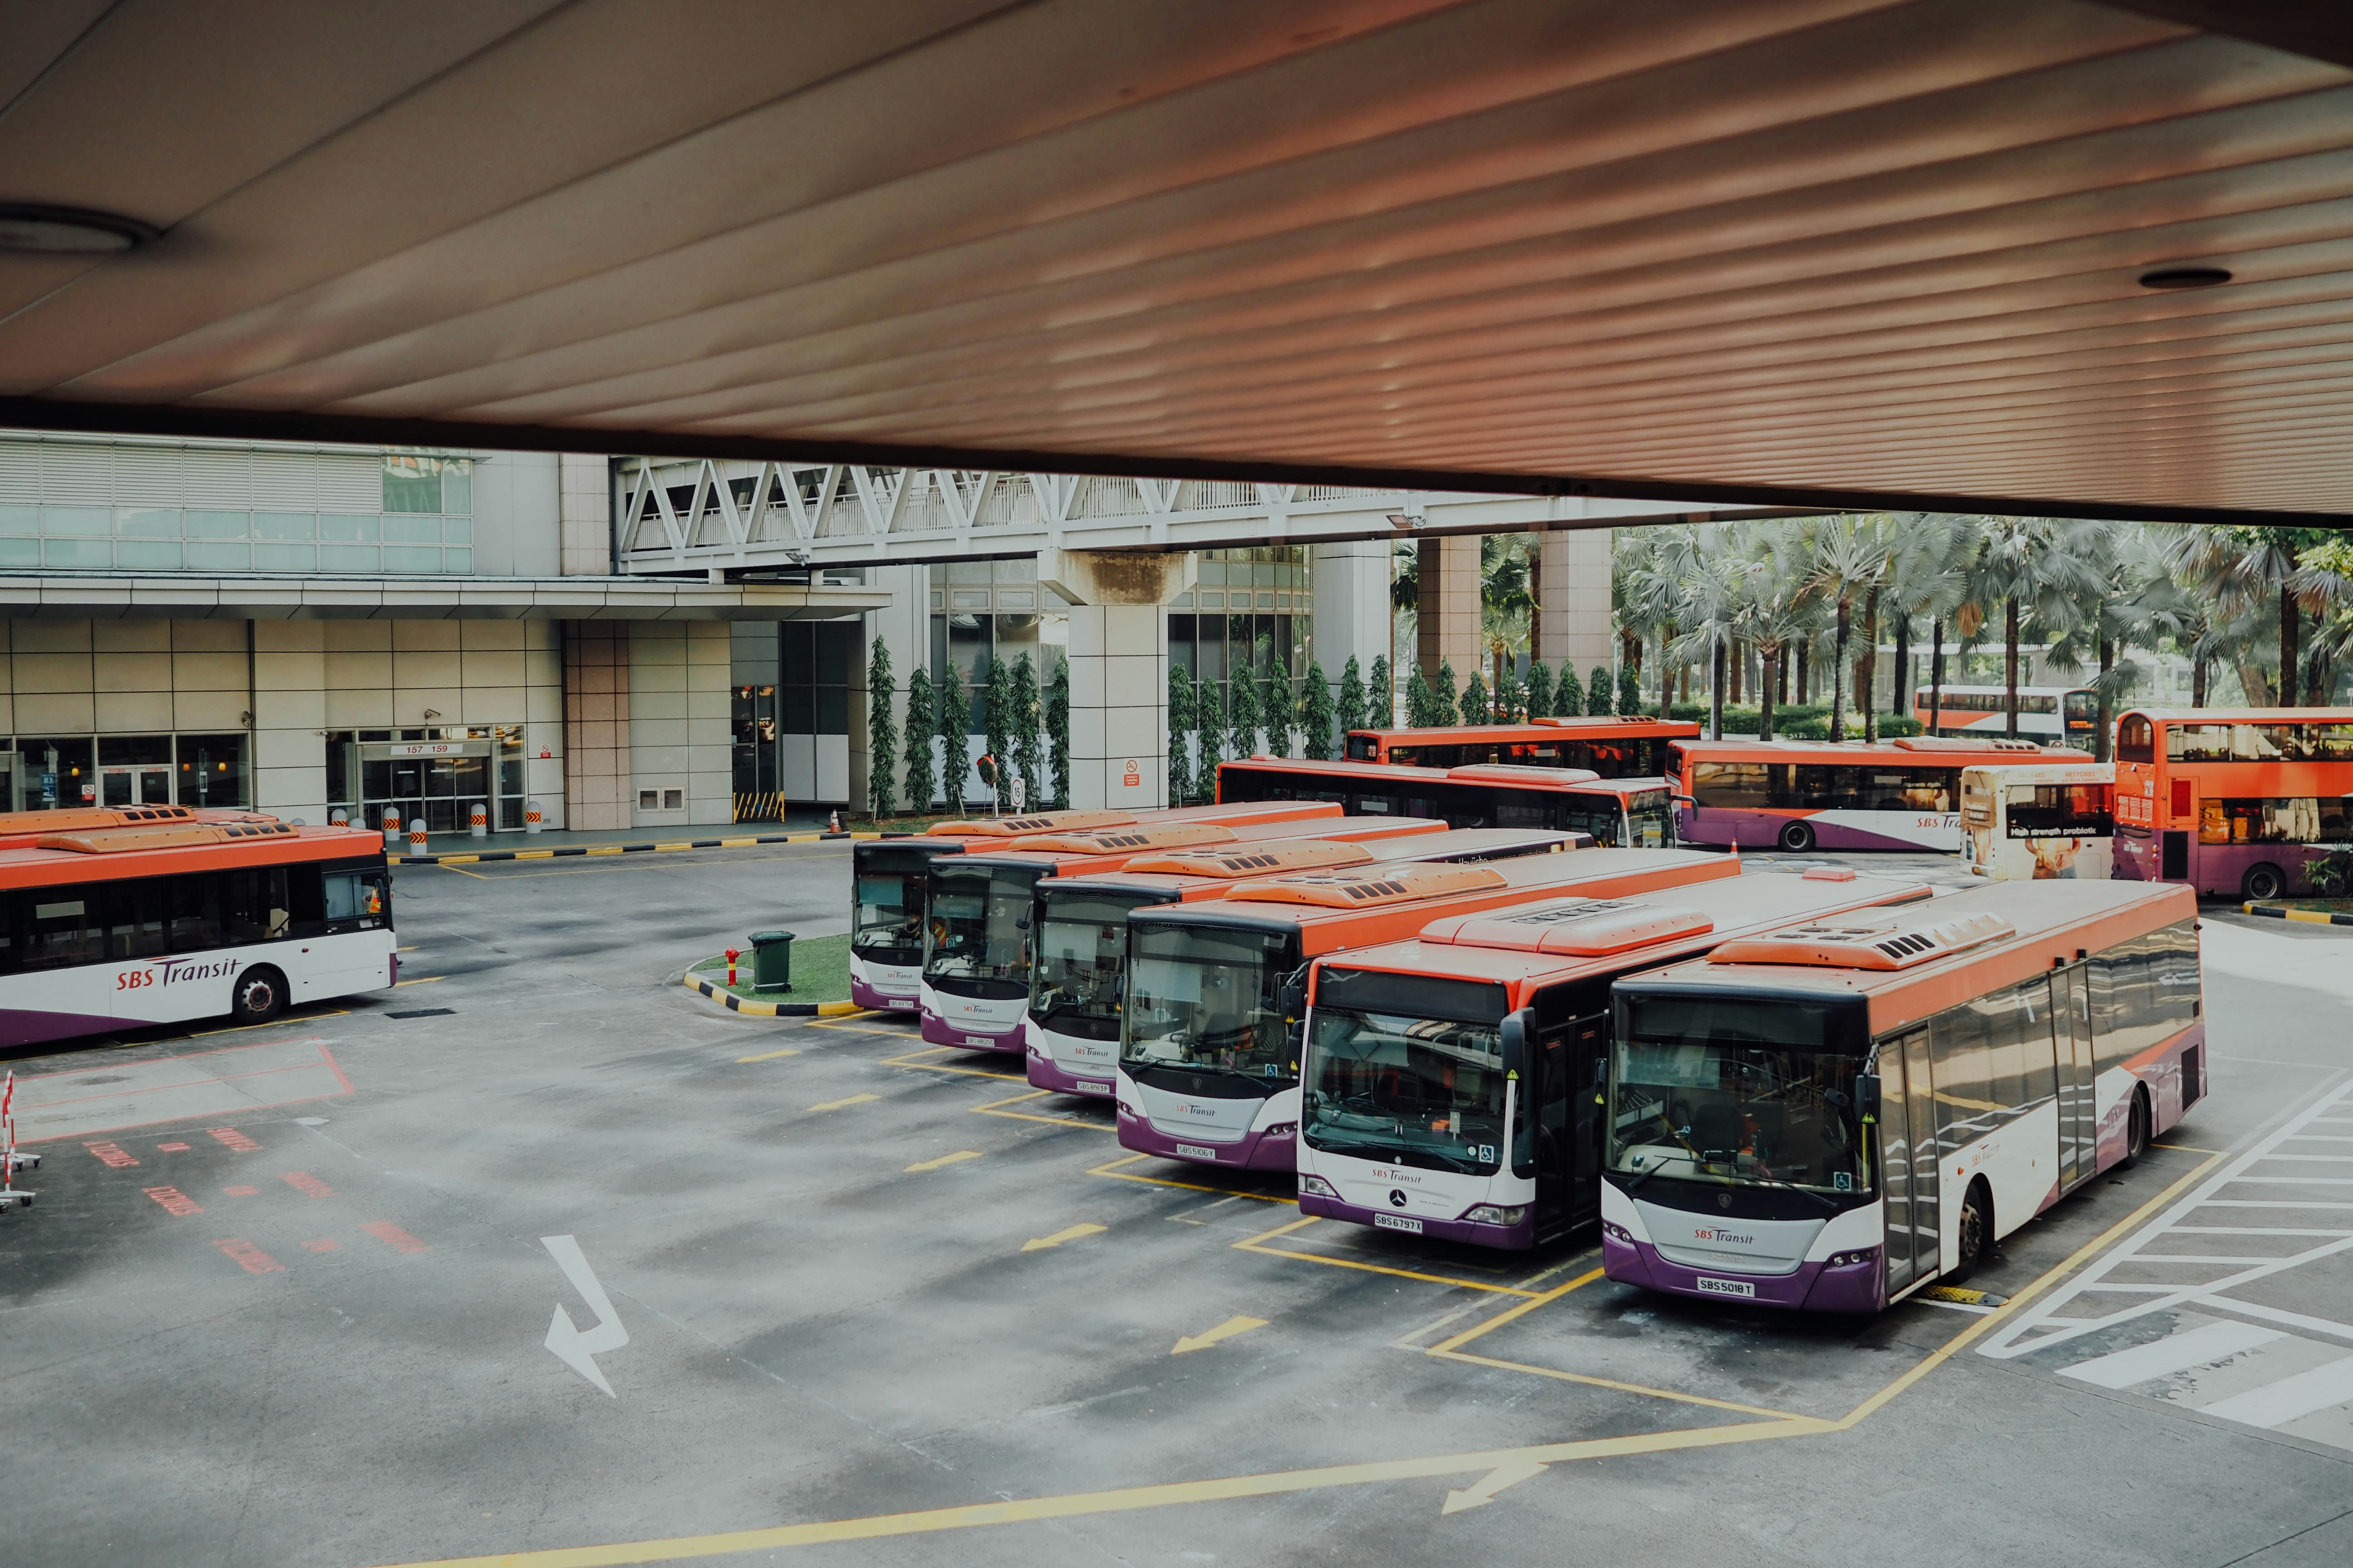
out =
<path fill-rule="evenodd" d="M 1327 1154 L 1494 1171 L 1504 1150 L 1497 1023 L 1318 1006 L 1299 1131 Z"/>

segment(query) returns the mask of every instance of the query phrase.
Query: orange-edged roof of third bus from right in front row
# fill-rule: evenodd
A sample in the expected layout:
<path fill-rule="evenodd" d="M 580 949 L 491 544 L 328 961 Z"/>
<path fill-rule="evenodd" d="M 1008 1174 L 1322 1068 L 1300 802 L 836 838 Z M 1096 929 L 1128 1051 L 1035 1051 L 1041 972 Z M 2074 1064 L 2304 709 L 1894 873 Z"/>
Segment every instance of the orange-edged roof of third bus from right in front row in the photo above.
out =
<path fill-rule="evenodd" d="M 1431 867 L 1438 870 L 1438 867 Z M 1421 931 L 1440 914 L 1471 914 L 1501 905 L 1529 903 L 1544 896 L 1581 891 L 1588 898 L 1617 898 L 1621 893 L 1645 893 L 1692 882 L 1715 882 L 1737 877 L 1739 860 L 1711 856 L 1692 849 L 1579 849 L 1572 856 L 1522 856 L 1518 860 L 1489 860 L 1485 865 L 1447 867 L 1487 872 L 1478 886 L 1459 886 L 1414 898 L 1412 889 L 1435 877 L 1409 877 L 1388 872 L 1381 882 L 1400 884 L 1407 896 L 1379 893 L 1355 907 L 1325 903 L 1289 903 L 1299 884 L 1308 877 L 1285 877 L 1280 882 L 1254 884 L 1271 898 L 1252 891 L 1252 884 L 1233 889 L 1224 898 L 1207 898 L 1191 905 L 1158 905 L 1136 910 L 1132 919 L 1148 924 L 1207 924 L 1240 926 L 1257 931 L 1297 931 L 1304 957 L 1334 952 L 1339 947 L 1369 947 L 1393 943 Z"/>

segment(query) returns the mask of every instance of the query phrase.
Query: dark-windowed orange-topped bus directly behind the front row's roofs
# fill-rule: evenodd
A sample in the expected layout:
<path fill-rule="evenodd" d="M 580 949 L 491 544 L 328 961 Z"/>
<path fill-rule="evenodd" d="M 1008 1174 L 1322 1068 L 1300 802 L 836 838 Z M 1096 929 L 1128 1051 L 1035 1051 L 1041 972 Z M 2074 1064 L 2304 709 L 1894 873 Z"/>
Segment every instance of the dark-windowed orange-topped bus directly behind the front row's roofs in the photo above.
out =
<path fill-rule="evenodd" d="M 1449 827 L 1588 832 L 1619 849 L 1673 846 L 1668 780 L 1598 778 L 1584 769 L 1473 762 L 1459 769 L 1252 757 L 1217 764 L 1217 797 L 1320 799 L 1362 816 L 1435 816 Z"/>

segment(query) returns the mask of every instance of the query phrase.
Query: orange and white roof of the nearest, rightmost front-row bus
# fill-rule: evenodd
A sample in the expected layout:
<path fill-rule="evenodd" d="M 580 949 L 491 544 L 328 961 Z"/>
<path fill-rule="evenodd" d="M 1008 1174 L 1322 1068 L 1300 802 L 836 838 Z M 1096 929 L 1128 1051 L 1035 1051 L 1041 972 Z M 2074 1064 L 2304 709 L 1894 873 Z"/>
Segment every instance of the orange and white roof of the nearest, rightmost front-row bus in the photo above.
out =
<path fill-rule="evenodd" d="M 1635 985 L 1861 997 L 1880 1037 L 2195 917 L 2198 896 L 2169 882 L 1993 882 L 1929 905 L 1722 943 Z"/>

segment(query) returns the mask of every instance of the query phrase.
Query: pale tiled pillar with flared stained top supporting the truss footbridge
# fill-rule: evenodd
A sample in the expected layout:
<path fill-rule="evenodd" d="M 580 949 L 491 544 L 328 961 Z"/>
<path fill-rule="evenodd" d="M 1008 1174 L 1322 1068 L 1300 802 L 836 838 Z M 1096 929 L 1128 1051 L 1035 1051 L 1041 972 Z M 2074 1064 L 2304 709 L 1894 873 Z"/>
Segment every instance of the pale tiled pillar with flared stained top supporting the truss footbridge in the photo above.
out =
<path fill-rule="evenodd" d="M 1038 555 L 1071 599 L 1071 809 L 1167 804 L 1167 604 L 1195 578 L 1193 555 Z"/>

